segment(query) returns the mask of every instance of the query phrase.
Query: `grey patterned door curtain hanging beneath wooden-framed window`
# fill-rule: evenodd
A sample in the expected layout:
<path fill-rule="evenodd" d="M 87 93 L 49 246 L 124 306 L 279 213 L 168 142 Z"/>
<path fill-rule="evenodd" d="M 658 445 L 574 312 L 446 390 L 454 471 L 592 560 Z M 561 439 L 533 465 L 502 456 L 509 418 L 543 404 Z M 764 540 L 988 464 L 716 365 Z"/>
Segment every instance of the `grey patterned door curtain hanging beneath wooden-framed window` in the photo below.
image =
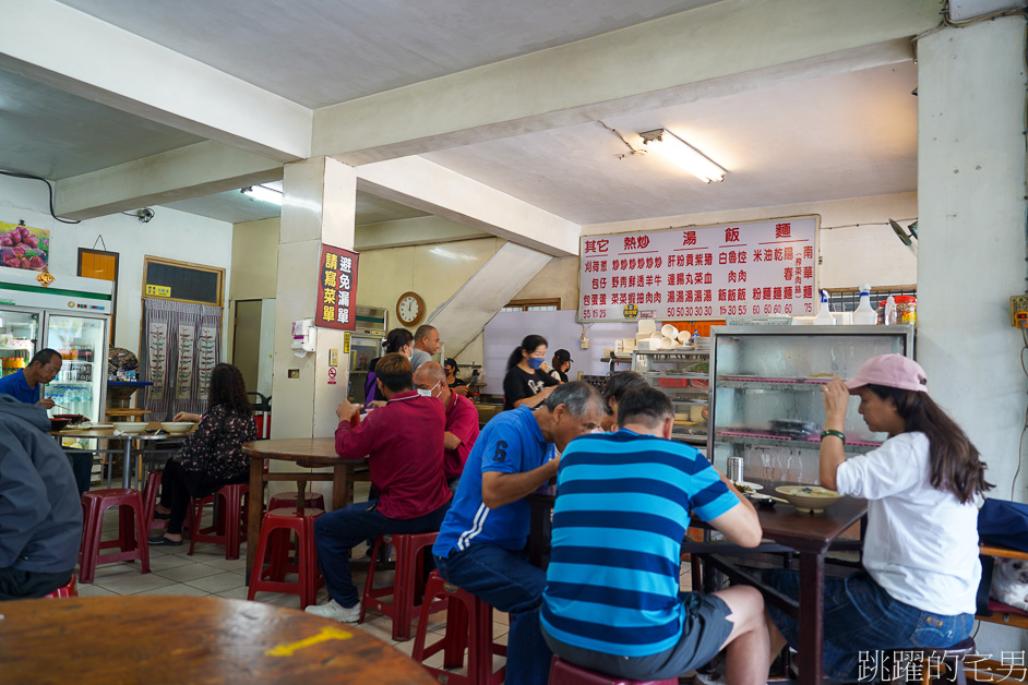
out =
<path fill-rule="evenodd" d="M 222 351 L 222 308 L 172 300 L 143 300 L 140 406 L 160 421 L 179 411 L 207 409 L 211 370 Z"/>

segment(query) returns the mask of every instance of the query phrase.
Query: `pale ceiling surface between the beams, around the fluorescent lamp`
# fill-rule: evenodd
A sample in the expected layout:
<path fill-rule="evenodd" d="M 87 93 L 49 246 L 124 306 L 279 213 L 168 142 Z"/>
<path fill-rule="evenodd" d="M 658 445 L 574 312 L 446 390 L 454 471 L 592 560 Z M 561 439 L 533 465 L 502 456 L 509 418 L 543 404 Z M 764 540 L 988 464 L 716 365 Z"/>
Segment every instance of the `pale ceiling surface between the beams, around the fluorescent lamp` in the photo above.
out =
<path fill-rule="evenodd" d="M 710 0 L 63 0 L 308 107 L 578 40 Z M 917 185 L 912 62 L 708 97 L 605 120 L 668 128 L 728 169 L 705 185 L 599 123 L 427 154 L 577 224 L 881 195 Z M 0 72 L 0 168 L 63 179 L 199 142 Z M 277 216 L 238 191 L 168 206 L 226 221 Z M 359 225 L 422 213 L 358 196 Z"/>

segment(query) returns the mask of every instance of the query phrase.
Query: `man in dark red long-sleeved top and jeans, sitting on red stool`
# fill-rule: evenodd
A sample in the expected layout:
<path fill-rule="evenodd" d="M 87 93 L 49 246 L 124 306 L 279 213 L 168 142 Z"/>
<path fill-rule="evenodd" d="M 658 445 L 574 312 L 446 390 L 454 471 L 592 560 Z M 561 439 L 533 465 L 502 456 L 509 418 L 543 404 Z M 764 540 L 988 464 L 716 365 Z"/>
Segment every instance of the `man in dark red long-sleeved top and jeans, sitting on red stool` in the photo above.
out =
<path fill-rule="evenodd" d="M 330 599 L 307 611 L 345 623 L 360 617 L 350 550 L 387 532 L 439 530 L 450 508 L 450 488 L 443 476 L 446 419 L 442 405 L 415 392 L 410 362 L 403 354 L 382 357 L 374 371 L 386 404 L 350 428 L 350 418 L 361 406 L 344 400 L 336 408 L 335 450 L 343 459 L 368 458 L 379 497 L 328 512 L 314 521 L 318 562 Z"/>

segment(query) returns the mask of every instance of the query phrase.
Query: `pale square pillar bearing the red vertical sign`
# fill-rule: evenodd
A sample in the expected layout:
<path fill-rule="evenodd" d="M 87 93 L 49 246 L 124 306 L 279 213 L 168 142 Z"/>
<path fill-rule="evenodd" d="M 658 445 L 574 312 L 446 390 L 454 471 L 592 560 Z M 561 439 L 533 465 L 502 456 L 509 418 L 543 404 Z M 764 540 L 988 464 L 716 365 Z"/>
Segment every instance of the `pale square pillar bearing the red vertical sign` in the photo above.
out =
<path fill-rule="evenodd" d="M 290 349 L 292 322 L 314 316 L 322 244 L 354 249 L 357 176 L 352 167 L 316 157 L 286 165 L 284 188 L 275 296 L 272 437 L 324 437 L 335 431 L 335 408 L 346 396 L 349 382 L 344 333 L 319 328 L 316 351 L 299 358 Z M 338 350 L 339 354 L 335 385 L 328 384 L 330 350 Z M 290 371 L 296 377 L 290 377 Z"/>

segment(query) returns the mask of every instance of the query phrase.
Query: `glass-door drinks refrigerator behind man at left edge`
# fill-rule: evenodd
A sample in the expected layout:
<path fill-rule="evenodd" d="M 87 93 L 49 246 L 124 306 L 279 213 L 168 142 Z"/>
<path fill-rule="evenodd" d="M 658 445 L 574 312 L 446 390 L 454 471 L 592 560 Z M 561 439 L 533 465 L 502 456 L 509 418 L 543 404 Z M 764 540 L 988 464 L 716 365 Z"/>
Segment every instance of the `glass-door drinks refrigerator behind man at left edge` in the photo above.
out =
<path fill-rule="evenodd" d="M 63 358 L 61 371 L 43 388 L 43 396 L 63 408 L 50 413 L 103 421 L 113 283 L 55 275 L 44 287 L 36 276 L 0 267 L 0 372 L 16 373 L 37 351 L 57 350 Z"/>

